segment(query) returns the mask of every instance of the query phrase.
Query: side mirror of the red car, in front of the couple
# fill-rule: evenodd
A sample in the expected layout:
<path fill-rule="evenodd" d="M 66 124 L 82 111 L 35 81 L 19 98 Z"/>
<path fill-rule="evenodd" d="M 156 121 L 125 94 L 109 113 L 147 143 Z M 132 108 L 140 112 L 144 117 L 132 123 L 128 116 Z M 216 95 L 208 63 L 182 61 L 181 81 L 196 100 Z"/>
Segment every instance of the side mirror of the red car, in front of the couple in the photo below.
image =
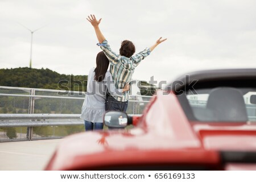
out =
<path fill-rule="evenodd" d="M 129 116 L 121 111 L 106 111 L 104 124 L 108 127 L 124 128 L 128 125 Z"/>

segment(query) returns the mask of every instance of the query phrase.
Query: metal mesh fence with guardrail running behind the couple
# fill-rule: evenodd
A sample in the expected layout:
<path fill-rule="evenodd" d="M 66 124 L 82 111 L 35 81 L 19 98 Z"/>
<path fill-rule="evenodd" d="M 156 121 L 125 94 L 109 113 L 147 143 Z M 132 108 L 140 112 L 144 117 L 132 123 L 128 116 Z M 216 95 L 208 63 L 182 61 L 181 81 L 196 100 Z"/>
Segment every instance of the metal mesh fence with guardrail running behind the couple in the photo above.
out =
<path fill-rule="evenodd" d="M 84 131 L 85 93 L 0 86 L 0 142 L 61 138 Z M 141 114 L 151 96 L 130 96 L 127 114 Z"/>

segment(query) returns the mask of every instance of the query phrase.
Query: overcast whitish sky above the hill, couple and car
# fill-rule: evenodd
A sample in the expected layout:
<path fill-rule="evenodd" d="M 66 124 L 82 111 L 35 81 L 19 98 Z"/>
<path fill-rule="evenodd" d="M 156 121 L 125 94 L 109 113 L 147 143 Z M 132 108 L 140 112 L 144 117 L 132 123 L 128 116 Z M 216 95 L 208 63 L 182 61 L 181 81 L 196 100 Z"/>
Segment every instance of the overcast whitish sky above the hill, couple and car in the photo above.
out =
<path fill-rule="evenodd" d="M 133 78 L 169 82 L 201 69 L 256 67 L 255 0 L 15 1 L 0 0 L 0 68 L 32 68 L 88 75 L 96 65 L 97 38 L 86 16 L 100 28 L 113 51 L 131 40 L 136 52 L 160 44 L 135 69 Z"/>

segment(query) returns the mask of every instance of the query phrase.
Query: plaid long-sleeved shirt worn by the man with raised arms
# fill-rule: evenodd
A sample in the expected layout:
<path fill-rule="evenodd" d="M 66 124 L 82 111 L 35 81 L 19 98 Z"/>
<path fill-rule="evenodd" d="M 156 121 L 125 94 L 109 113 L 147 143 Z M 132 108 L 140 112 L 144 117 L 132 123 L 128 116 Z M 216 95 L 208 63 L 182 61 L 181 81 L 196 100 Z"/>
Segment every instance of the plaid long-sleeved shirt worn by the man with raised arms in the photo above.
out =
<path fill-rule="evenodd" d="M 116 89 L 123 89 L 124 85 L 130 83 L 131 77 L 134 73 L 134 69 L 139 63 L 141 63 L 141 60 L 143 60 L 144 57 L 150 55 L 151 52 L 150 48 L 146 48 L 142 52 L 139 52 L 134 56 L 125 57 L 113 52 L 107 40 L 104 40 L 104 42 L 102 42 L 101 44 L 98 43 L 97 45 L 101 47 L 102 51 L 105 52 L 105 55 L 109 59 L 109 71 L 113 77 Z M 123 92 L 122 97 L 113 97 L 117 101 L 125 102 L 129 100 L 129 92 Z"/>

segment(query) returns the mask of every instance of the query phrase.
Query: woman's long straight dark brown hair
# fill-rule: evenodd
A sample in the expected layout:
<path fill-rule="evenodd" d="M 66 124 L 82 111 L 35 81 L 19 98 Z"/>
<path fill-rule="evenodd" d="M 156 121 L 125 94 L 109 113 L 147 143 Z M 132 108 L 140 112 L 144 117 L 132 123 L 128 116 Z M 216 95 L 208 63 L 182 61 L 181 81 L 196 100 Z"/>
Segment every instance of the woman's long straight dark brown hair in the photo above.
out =
<path fill-rule="evenodd" d="M 106 71 L 109 67 L 109 60 L 103 51 L 99 52 L 96 57 L 96 68 L 94 69 L 94 80 L 102 81 L 105 78 Z"/>

